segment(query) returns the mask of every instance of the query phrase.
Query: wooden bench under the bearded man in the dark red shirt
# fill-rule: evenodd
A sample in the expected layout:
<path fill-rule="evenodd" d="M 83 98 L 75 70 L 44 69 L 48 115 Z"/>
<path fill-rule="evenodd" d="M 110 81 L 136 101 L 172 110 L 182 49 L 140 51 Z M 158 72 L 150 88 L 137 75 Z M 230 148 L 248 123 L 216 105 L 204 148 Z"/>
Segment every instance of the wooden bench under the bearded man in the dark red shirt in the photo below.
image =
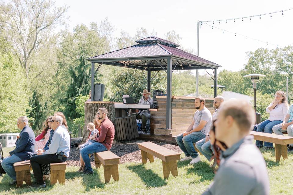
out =
<path fill-rule="evenodd" d="M 111 175 L 115 181 L 119 181 L 118 164 L 120 163 L 120 157 L 111 151 L 96 152 L 94 155 L 96 168 L 100 168 L 101 164 L 104 167 L 105 183 L 110 181 Z"/>

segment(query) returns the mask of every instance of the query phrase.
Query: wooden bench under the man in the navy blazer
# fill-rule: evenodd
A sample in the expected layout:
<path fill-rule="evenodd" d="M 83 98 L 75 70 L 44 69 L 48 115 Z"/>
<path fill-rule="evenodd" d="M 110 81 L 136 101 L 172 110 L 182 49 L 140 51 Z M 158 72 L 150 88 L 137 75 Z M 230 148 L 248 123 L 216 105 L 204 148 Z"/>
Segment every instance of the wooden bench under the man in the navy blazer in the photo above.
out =
<path fill-rule="evenodd" d="M 22 187 L 23 182 L 31 185 L 31 165 L 30 161 L 20 161 L 14 163 L 14 170 L 16 172 L 16 186 Z"/>

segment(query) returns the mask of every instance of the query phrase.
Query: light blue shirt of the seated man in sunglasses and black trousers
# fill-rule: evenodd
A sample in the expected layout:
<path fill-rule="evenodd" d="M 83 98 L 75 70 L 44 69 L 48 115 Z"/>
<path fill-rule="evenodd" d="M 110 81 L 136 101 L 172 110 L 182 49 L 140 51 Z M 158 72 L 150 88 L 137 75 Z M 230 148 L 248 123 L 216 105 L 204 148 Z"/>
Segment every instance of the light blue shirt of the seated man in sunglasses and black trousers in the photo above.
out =
<path fill-rule="evenodd" d="M 64 129 L 63 126 L 57 127 L 49 145 L 49 150 L 46 150 L 43 154 L 55 154 L 59 152 L 64 152 L 64 155 L 69 157 L 70 136 L 67 129 Z"/>

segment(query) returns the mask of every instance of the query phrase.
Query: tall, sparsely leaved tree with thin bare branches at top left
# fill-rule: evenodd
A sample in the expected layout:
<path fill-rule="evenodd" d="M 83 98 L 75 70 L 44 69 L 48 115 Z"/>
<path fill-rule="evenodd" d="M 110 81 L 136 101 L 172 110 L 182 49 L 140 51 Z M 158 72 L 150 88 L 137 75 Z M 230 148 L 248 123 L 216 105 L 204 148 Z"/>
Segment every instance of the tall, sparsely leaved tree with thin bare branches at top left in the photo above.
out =
<path fill-rule="evenodd" d="M 50 0 L 3 1 L 0 7 L 0 31 L 28 78 L 32 56 L 47 43 L 56 24 L 64 24 L 68 7 L 56 7 Z"/>

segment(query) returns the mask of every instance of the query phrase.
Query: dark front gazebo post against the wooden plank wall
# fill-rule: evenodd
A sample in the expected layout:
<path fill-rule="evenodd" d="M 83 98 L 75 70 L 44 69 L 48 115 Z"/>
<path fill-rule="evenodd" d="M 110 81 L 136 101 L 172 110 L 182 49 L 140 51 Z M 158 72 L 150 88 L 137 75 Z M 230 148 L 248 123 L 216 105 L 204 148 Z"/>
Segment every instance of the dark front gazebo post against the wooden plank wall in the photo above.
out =
<path fill-rule="evenodd" d="M 172 59 L 167 59 L 166 129 L 172 127 Z"/>

